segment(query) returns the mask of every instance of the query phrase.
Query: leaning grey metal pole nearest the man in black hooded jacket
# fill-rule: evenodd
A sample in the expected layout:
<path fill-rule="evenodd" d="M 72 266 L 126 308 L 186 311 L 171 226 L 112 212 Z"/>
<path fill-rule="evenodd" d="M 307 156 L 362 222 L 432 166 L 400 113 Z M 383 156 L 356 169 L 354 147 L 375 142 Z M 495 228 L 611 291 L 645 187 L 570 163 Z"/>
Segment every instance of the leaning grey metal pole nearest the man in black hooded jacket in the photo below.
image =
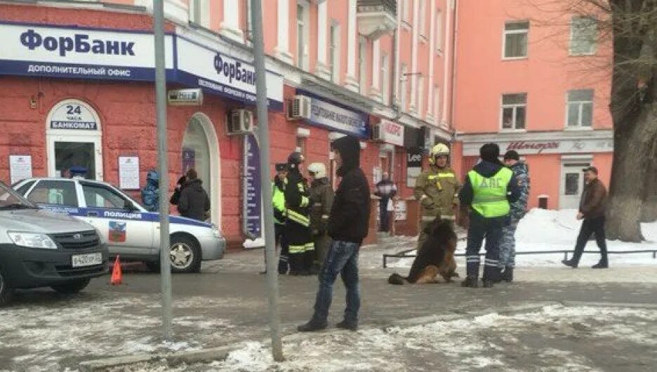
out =
<path fill-rule="evenodd" d="M 272 208 L 272 185 L 270 181 L 269 124 L 267 124 L 267 83 L 265 51 L 263 46 L 263 2 L 251 1 L 251 24 L 253 25 L 253 64 L 255 65 L 255 95 L 258 108 L 258 137 L 260 138 L 260 185 L 262 185 L 263 213 L 265 215 L 265 256 L 267 257 L 267 296 L 269 298 L 272 355 L 275 361 L 283 361 L 281 326 L 279 324 L 278 268 L 276 238 L 274 237 L 274 211 Z"/>

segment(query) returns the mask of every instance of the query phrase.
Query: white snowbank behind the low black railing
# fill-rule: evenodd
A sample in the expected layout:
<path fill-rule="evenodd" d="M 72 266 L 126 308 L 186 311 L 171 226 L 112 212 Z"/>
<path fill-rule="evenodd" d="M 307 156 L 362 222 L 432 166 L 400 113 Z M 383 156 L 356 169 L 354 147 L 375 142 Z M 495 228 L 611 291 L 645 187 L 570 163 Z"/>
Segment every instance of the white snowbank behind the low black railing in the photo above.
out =
<path fill-rule="evenodd" d="M 532 209 L 525 215 L 518 225 L 516 232 L 516 251 L 536 252 L 536 251 L 572 251 L 575 248 L 575 242 L 580 230 L 581 221 L 576 219 L 577 211 L 560 210 L 550 211 L 545 209 Z M 623 241 L 607 241 L 607 248 L 611 252 L 635 251 L 644 249 L 657 249 L 657 222 L 642 224 L 642 232 L 646 241 L 642 243 L 625 243 Z M 409 240 L 407 244 L 398 244 L 397 242 L 388 242 L 381 244 L 384 251 L 397 252 L 404 249 L 414 248 L 414 241 Z M 465 241 L 459 241 L 456 253 L 465 253 Z M 597 252 L 598 248 L 595 241 L 589 241 L 585 251 Z M 396 253 L 397 253 L 396 252 Z M 482 247 L 482 252 L 484 248 Z M 387 253 L 387 252 L 385 252 Z M 382 253 L 383 254 L 383 253 Z M 409 254 L 415 254 L 414 252 Z M 568 257 L 571 258 L 569 253 Z M 597 253 L 585 253 L 580 261 L 580 267 L 595 265 L 600 256 Z M 516 256 L 518 267 L 552 267 L 562 266 L 561 260 L 564 259 L 563 253 L 546 253 Z M 362 260 L 362 259 L 361 259 Z M 395 259 L 390 258 L 389 267 L 411 267 L 412 258 Z M 458 258 L 457 263 L 463 267 L 465 260 Z M 367 261 L 366 265 L 376 267 L 373 261 Z M 380 264 L 379 264 L 380 265 Z M 625 253 L 609 255 L 609 265 L 657 265 L 657 260 L 653 258 L 652 253 Z M 381 267 L 381 266 L 378 266 Z"/>

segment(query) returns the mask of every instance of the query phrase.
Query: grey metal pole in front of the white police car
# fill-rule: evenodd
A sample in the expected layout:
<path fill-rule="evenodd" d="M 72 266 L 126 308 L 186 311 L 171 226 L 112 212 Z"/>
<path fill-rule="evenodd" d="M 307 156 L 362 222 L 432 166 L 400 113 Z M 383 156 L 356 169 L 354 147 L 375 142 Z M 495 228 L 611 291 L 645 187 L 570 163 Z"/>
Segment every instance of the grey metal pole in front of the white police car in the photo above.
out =
<path fill-rule="evenodd" d="M 164 339 L 173 338 L 171 258 L 168 228 L 168 165 L 166 144 L 166 70 L 164 65 L 164 0 L 153 1 L 155 28 L 155 102 L 157 107 L 157 168 L 159 173 L 160 279 Z"/>

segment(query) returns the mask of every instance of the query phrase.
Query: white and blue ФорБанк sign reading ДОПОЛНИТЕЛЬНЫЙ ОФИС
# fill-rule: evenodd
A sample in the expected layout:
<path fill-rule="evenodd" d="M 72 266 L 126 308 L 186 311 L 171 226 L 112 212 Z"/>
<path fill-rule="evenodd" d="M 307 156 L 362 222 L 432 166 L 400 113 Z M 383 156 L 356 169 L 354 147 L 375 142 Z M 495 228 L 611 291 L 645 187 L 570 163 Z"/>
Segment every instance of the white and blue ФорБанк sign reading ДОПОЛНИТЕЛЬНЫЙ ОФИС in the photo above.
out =
<path fill-rule="evenodd" d="M 0 23 L 2 74 L 154 81 L 153 35 L 116 29 Z M 173 36 L 165 36 L 173 69 Z M 172 71 L 170 71 L 171 73 Z"/>

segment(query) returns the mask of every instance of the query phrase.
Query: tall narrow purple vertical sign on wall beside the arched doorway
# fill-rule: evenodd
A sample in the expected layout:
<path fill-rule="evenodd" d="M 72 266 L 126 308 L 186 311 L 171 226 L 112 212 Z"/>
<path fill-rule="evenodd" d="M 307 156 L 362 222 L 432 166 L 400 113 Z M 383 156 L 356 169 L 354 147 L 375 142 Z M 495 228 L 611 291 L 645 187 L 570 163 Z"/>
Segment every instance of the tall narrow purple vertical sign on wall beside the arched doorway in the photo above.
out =
<path fill-rule="evenodd" d="M 243 187 L 242 230 L 249 239 L 258 239 L 263 235 L 263 204 L 260 189 L 260 152 L 255 135 L 244 136 Z"/>

